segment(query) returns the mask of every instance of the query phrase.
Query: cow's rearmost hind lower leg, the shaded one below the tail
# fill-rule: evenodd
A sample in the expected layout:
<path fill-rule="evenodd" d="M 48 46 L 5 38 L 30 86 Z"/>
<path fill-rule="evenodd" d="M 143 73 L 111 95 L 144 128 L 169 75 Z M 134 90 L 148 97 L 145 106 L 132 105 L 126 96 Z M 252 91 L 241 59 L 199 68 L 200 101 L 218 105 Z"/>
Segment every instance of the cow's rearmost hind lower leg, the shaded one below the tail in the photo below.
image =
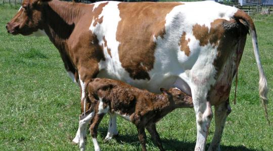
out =
<path fill-rule="evenodd" d="M 226 117 L 231 113 L 231 106 L 229 99 L 220 105 L 214 107 L 214 118 L 215 118 L 215 132 L 213 139 L 209 145 L 210 151 L 220 150 L 220 141 L 225 124 Z"/>

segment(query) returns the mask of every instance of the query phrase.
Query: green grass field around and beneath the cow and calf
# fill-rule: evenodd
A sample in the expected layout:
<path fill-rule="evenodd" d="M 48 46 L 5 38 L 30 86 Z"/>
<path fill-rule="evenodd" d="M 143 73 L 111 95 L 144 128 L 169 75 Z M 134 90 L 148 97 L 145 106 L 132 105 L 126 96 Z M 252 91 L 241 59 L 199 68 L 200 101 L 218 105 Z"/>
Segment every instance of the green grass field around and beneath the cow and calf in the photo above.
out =
<path fill-rule="evenodd" d="M 67 76 L 58 50 L 47 37 L 12 36 L 5 25 L 16 14 L 0 5 L 0 150 L 77 150 L 71 140 L 78 127 L 79 88 Z M 273 85 L 273 16 L 254 16 L 260 57 Z M 273 123 L 272 91 L 269 119 Z M 258 69 L 248 36 L 239 68 L 237 105 L 232 104 L 222 135 L 222 150 L 273 150 L 273 124 L 267 125 L 258 97 Z M 234 98 L 234 87 L 231 93 Z M 103 142 L 108 116 L 100 124 L 102 150 L 140 150 L 136 128 L 118 118 L 119 136 Z M 167 150 L 193 150 L 196 124 L 193 109 L 177 109 L 157 124 Z M 211 123 L 207 146 L 214 132 Z M 148 134 L 148 150 L 157 150 Z M 90 135 L 87 150 L 93 150 Z"/>

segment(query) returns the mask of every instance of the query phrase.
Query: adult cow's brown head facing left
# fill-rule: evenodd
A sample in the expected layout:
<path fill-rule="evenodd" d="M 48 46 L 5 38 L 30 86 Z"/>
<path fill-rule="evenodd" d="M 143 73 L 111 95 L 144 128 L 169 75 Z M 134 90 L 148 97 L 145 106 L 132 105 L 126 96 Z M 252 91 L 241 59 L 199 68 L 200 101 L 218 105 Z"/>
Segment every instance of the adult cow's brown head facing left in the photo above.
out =
<path fill-rule="evenodd" d="M 8 33 L 30 35 L 42 29 L 42 11 L 47 0 L 24 0 L 22 7 L 6 25 Z"/>

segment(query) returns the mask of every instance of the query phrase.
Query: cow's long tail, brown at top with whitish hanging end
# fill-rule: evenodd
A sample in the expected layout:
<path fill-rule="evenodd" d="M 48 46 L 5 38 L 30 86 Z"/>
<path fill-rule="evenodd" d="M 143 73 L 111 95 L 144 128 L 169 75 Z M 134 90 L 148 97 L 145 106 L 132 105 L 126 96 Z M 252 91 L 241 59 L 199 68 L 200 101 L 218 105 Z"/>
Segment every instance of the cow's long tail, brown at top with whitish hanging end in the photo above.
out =
<path fill-rule="evenodd" d="M 243 20 L 243 22 L 246 23 L 246 25 L 248 26 L 248 28 L 250 30 L 250 34 L 252 36 L 252 45 L 253 45 L 254 55 L 255 55 L 256 62 L 257 62 L 257 66 L 258 66 L 258 70 L 259 70 L 259 77 L 260 77 L 260 80 L 259 80 L 259 95 L 260 95 L 260 98 L 262 100 L 262 105 L 264 107 L 265 118 L 266 118 L 268 124 L 270 124 L 270 121 L 268 119 L 268 114 L 267 114 L 267 104 L 268 104 L 268 100 L 267 100 L 267 92 L 268 92 L 267 81 L 266 81 L 266 77 L 265 77 L 265 74 L 263 72 L 260 57 L 259 57 L 258 41 L 257 41 L 257 35 L 256 35 L 256 30 L 255 30 L 253 20 L 242 10 L 238 10 L 237 13 L 235 13 L 234 18 L 239 19 L 239 20 Z"/>

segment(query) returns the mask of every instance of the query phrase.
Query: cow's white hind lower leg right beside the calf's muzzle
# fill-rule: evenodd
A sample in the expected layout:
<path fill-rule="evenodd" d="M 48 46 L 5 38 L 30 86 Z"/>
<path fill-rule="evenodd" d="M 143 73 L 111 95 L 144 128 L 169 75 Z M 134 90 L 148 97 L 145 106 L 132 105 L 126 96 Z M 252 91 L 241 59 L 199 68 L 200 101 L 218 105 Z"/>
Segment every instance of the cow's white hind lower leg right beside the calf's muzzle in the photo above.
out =
<path fill-rule="evenodd" d="M 212 109 L 210 102 L 207 101 L 207 94 L 198 90 L 193 93 L 194 110 L 196 114 L 197 140 L 195 150 L 205 150 L 208 130 L 212 119 Z M 201 92 L 201 93 L 200 93 Z"/>

